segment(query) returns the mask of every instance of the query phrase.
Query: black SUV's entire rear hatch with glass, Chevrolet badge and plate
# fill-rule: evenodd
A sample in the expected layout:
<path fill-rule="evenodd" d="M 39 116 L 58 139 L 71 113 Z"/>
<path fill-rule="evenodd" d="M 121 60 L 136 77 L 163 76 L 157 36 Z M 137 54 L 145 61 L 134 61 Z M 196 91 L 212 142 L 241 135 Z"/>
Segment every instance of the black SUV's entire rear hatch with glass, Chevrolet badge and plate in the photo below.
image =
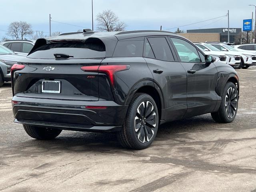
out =
<path fill-rule="evenodd" d="M 87 40 L 41 40 L 16 71 L 14 94 L 31 98 L 62 100 L 99 99 L 98 72 L 84 72 L 81 66 L 99 66 L 106 56 L 104 43 Z"/>

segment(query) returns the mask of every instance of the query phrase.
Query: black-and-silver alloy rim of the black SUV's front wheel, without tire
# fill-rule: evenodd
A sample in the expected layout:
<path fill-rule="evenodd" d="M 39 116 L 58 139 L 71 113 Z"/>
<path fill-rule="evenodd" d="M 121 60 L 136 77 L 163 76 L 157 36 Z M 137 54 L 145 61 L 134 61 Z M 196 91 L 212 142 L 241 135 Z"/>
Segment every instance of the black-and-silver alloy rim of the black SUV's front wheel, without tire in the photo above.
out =
<path fill-rule="evenodd" d="M 230 87 L 225 97 L 225 110 L 228 118 L 233 118 L 237 110 L 237 94 L 234 87 Z"/>

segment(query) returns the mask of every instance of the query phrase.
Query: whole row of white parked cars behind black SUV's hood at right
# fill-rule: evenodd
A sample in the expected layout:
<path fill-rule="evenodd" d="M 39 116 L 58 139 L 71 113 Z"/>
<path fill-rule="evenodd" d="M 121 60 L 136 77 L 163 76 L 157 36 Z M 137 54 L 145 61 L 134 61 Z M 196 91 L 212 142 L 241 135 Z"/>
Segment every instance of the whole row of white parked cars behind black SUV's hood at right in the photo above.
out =
<path fill-rule="evenodd" d="M 194 44 L 205 54 L 212 55 L 218 58 L 220 62 L 227 63 L 235 69 L 246 69 L 250 66 L 256 66 L 256 50 L 254 50 L 255 44 L 237 46 L 218 42 Z"/>

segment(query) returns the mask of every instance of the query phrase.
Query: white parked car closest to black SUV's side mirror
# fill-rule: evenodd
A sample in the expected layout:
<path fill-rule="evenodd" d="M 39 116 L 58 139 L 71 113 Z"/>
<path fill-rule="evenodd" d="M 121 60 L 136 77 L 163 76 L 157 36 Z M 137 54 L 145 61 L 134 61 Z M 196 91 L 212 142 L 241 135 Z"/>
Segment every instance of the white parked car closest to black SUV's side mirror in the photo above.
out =
<path fill-rule="evenodd" d="M 218 57 L 220 58 L 221 62 L 226 62 L 227 64 L 229 64 L 230 66 L 232 66 L 233 68 L 237 69 L 237 68 L 241 68 L 241 60 L 238 58 L 240 56 L 238 55 L 232 55 L 232 54 L 224 54 L 223 52 L 221 52 L 219 49 L 217 49 L 216 47 L 212 46 L 211 44 L 207 44 L 207 43 L 194 43 L 196 46 L 198 46 L 199 48 L 203 49 L 205 54 L 210 54 L 212 56 Z M 220 57 L 220 56 L 221 57 Z M 223 58 L 223 55 L 226 56 L 226 60 Z"/>

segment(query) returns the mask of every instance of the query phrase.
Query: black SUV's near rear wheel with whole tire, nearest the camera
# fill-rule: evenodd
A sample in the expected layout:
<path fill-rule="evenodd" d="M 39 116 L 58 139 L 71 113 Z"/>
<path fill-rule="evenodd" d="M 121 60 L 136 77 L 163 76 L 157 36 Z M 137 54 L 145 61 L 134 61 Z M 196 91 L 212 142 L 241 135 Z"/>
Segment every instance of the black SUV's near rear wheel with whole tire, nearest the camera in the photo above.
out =
<path fill-rule="evenodd" d="M 144 106 L 146 111 L 144 113 Z M 130 102 L 122 130 L 117 133 L 118 142 L 124 148 L 145 149 L 156 137 L 158 109 L 154 99 L 144 93 L 135 94 Z"/>

